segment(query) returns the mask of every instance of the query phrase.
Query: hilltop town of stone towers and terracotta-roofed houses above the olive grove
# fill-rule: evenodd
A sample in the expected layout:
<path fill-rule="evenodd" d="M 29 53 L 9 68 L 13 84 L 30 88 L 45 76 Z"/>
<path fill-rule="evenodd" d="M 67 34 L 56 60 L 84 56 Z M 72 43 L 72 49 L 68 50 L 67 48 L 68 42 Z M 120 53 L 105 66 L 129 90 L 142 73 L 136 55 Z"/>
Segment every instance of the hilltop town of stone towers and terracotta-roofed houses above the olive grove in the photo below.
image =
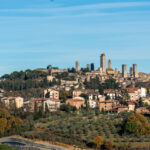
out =
<path fill-rule="evenodd" d="M 129 73 L 127 65 L 123 64 L 120 72 L 117 68 L 112 69 L 110 59 L 107 67 L 106 56 L 101 54 L 100 67 L 97 70 L 94 63 L 87 64 L 86 68 L 80 68 L 80 62 L 76 61 L 75 68 L 58 69 L 49 65 L 46 69 L 36 71 L 43 72 L 43 77 L 37 77 L 36 81 L 39 82 L 38 80 L 44 78 L 46 82 L 46 86 L 38 87 L 37 85 L 36 87 L 42 89 L 40 96 L 33 94 L 26 100 L 21 94 L 15 97 L 10 91 L 20 91 L 20 89 L 8 90 L 4 83 L 13 79 L 10 79 L 9 75 L 4 75 L 1 77 L 0 85 L 4 87 L 1 88 L 1 102 L 8 107 L 14 103 L 16 108 L 24 108 L 25 111 L 31 112 L 34 111 L 35 103 L 44 111 L 46 106 L 49 111 L 57 111 L 64 103 L 80 109 L 85 107 L 85 101 L 87 101 L 89 108 L 99 107 L 100 111 L 149 113 L 149 109 L 145 106 L 150 105 L 150 85 L 148 84 L 150 75 L 138 73 L 136 64 L 130 67 Z M 15 74 L 17 76 L 17 72 L 12 73 L 12 76 Z M 33 87 L 30 88 L 33 89 Z M 11 93 L 11 96 L 8 93 Z M 5 95 L 8 96 L 5 97 Z M 139 102 L 142 102 L 142 107 L 135 107 Z"/>

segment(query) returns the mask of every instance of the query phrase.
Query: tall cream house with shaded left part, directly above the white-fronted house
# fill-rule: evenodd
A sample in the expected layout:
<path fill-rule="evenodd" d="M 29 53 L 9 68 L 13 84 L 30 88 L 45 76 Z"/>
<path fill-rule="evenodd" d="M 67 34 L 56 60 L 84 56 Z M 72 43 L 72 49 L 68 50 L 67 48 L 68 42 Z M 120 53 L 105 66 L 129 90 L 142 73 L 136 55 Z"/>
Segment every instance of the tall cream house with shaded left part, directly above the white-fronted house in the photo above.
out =
<path fill-rule="evenodd" d="M 44 98 L 59 99 L 59 91 L 46 89 L 44 90 Z"/>

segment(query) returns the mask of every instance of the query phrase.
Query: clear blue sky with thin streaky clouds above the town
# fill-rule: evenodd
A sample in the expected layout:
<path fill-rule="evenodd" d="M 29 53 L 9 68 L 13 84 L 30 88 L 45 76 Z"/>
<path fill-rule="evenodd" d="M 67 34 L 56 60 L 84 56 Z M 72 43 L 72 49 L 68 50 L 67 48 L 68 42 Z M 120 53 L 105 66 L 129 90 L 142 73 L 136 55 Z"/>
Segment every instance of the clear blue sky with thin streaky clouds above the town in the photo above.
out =
<path fill-rule="evenodd" d="M 0 0 L 0 75 L 94 62 L 150 73 L 149 0 Z"/>

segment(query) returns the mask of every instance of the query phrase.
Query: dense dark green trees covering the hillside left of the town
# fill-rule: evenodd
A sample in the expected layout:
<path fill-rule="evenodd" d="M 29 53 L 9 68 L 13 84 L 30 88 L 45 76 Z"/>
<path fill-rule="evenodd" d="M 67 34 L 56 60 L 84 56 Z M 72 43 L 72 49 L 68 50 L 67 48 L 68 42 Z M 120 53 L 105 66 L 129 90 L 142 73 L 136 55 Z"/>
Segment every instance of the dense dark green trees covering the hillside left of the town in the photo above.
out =
<path fill-rule="evenodd" d="M 6 74 L 1 77 L 0 88 L 6 91 L 23 91 L 60 84 L 60 81 L 55 79 L 48 82 L 46 76 L 47 73 L 38 70 L 15 71 L 10 75 Z M 34 93 L 32 94 L 34 95 Z"/>

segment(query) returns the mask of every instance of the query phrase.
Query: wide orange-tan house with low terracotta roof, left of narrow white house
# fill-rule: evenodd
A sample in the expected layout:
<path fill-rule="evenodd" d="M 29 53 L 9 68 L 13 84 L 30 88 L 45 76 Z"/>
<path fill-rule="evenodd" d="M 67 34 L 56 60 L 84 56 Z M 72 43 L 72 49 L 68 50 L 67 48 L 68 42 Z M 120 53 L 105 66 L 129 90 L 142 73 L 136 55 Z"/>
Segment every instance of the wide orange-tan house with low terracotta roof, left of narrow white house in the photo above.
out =
<path fill-rule="evenodd" d="M 77 109 L 80 109 L 84 105 L 84 103 L 85 103 L 85 99 L 82 97 L 75 97 L 75 98 L 66 100 L 66 104 L 74 106 Z"/>

